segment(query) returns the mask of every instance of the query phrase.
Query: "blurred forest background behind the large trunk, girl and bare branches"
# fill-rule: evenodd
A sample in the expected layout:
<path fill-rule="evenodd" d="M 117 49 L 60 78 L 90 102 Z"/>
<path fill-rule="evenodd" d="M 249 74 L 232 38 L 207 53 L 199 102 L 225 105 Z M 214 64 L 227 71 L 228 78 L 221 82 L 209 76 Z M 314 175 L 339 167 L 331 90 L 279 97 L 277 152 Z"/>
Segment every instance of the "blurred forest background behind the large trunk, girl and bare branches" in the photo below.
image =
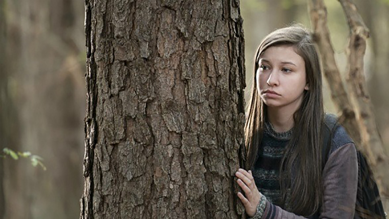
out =
<path fill-rule="evenodd" d="M 349 28 L 336 0 L 324 1 L 336 61 L 345 72 Z M 389 2 L 356 0 L 370 29 L 365 76 L 378 130 L 389 151 Z M 310 27 L 306 0 L 241 0 L 247 96 L 260 40 L 293 22 Z M 83 189 L 85 117 L 84 2 L 0 0 L 0 146 L 28 159 L 0 160 L 0 218 L 77 218 Z M 337 113 L 324 79 L 326 111 Z M 384 200 L 387 201 L 387 200 Z"/>

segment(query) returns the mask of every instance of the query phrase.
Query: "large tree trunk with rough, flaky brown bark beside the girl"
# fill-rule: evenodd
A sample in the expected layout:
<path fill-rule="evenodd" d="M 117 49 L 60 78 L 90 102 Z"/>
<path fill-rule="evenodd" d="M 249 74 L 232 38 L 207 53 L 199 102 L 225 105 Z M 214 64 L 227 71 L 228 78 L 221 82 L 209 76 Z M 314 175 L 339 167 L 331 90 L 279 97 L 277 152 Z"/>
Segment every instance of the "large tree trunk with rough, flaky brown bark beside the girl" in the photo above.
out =
<path fill-rule="evenodd" d="M 86 0 L 81 218 L 240 218 L 238 0 Z"/>

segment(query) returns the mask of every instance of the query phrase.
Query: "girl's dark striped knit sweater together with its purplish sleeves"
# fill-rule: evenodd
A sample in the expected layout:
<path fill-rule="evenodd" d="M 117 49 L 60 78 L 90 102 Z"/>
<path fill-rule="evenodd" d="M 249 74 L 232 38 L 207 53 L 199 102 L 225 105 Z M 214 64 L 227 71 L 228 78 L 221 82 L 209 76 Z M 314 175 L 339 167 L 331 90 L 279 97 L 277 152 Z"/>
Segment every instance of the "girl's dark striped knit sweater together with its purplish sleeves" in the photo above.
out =
<path fill-rule="evenodd" d="M 277 133 L 270 124 L 265 124 L 258 159 L 252 170 L 258 190 L 262 194 L 254 218 L 304 218 L 291 213 L 288 206 L 282 206 L 280 192 L 280 161 L 292 132 Z M 310 218 L 353 218 L 357 172 L 356 148 L 345 129 L 340 126 L 333 134 L 328 161 L 322 172 L 323 205 L 319 212 Z"/>

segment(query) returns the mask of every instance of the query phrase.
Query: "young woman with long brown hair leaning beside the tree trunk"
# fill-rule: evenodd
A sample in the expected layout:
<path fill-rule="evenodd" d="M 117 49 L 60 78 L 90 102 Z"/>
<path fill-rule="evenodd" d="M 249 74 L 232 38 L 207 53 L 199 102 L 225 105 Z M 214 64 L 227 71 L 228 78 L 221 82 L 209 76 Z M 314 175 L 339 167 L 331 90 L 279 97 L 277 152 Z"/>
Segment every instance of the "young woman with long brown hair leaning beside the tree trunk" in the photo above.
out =
<path fill-rule="evenodd" d="M 321 69 L 312 37 L 291 26 L 272 32 L 256 53 L 245 125 L 247 166 L 238 197 L 254 218 L 354 217 L 357 155 L 343 127 L 322 164 Z"/>

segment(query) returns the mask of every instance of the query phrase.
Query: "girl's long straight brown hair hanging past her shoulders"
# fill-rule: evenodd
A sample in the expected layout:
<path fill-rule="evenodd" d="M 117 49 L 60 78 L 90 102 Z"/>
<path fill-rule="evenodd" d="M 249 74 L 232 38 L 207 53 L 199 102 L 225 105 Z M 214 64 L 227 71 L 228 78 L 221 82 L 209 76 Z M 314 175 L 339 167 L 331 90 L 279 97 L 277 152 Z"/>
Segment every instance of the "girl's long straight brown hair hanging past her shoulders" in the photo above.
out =
<path fill-rule="evenodd" d="M 255 57 L 254 80 L 252 83 L 249 114 L 245 124 L 245 146 L 247 166 L 251 169 L 256 162 L 261 145 L 267 107 L 258 94 L 255 74 L 263 52 L 272 47 L 288 45 L 305 61 L 309 90 L 304 91 L 300 108 L 294 113 L 294 129 L 280 165 L 280 185 L 284 201 L 287 190 L 291 211 L 298 215 L 314 214 L 322 204 L 322 124 L 323 101 L 319 57 L 312 36 L 301 26 L 282 28 L 267 35 Z M 293 171 L 293 174 L 292 174 Z"/>

